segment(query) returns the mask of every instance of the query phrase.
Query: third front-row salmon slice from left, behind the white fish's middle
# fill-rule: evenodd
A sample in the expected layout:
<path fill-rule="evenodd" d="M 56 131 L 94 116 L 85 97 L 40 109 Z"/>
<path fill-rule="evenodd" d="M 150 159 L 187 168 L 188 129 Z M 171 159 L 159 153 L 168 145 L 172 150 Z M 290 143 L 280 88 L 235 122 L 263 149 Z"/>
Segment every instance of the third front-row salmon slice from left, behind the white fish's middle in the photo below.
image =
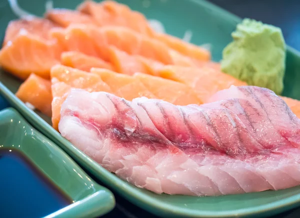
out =
<path fill-rule="evenodd" d="M 133 77 L 138 78 L 158 99 L 176 105 L 202 103 L 195 92 L 183 83 L 143 73 L 134 73 Z"/>

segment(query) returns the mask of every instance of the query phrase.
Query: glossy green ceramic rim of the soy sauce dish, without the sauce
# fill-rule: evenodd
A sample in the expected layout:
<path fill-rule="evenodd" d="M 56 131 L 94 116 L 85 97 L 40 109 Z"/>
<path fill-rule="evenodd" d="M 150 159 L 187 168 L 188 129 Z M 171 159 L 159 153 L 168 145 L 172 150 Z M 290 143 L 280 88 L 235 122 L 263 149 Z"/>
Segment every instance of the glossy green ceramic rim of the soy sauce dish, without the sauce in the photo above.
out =
<path fill-rule="evenodd" d="M 47 217 L 98 217 L 114 207 L 114 197 L 107 188 L 90 179 L 61 148 L 29 125 L 16 110 L 0 111 L 0 129 L 1 148 L 19 150 L 73 201 Z"/>

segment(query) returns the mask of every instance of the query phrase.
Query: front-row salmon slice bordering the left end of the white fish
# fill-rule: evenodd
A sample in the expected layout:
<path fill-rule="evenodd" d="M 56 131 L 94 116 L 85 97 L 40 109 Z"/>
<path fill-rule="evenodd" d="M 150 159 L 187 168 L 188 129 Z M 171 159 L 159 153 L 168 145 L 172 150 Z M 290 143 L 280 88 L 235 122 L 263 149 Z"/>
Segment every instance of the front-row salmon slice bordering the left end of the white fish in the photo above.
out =
<path fill-rule="evenodd" d="M 99 75 L 59 64 L 53 66 L 51 68 L 51 90 L 53 96 L 51 106 L 52 126 L 56 130 L 60 119 L 61 104 L 72 88 L 111 92 L 109 86 L 102 81 Z"/>

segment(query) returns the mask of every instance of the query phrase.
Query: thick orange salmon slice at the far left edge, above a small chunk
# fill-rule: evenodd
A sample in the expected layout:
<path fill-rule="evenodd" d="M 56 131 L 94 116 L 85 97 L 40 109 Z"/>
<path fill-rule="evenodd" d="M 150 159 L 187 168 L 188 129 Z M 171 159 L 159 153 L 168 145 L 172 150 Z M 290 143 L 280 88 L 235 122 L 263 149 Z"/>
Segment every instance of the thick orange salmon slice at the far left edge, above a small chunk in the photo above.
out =
<path fill-rule="evenodd" d="M 42 40 L 20 32 L 0 50 L 0 65 L 13 75 L 26 79 L 31 72 L 49 78 L 50 68 L 59 63 L 61 48 L 54 40 Z"/>

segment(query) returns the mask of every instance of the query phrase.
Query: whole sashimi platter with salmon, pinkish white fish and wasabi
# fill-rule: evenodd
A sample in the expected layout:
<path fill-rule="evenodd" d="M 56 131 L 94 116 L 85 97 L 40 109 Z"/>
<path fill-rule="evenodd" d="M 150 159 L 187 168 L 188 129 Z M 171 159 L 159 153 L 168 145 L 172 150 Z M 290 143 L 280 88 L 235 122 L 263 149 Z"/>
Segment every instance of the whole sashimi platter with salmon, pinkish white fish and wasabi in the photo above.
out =
<path fill-rule="evenodd" d="M 207 18 L 214 39 L 195 33 L 205 31 L 205 20 L 202 29 L 174 36 L 172 16 L 165 26 L 168 16 L 161 18 L 170 1 L 181 2 L 47 1 L 40 15 L 7 1 L 17 18 L 3 29 L 0 93 L 99 182 L 156 215 L 271 215 L 295 207 L 300 93 L 288 94 L 285 80 L 300 73 L 290 56 L 300 57 L 280 28 L 201 0 L 186 5 L 219 10 Z M 151 4 L 160 5 L 158 17 Z M 222 16 L 230 27 L 214 28 Z M 236 203 L 244 196 L 257 205 Z M 226 201 L 237 205 L 222 209 Z"/>

